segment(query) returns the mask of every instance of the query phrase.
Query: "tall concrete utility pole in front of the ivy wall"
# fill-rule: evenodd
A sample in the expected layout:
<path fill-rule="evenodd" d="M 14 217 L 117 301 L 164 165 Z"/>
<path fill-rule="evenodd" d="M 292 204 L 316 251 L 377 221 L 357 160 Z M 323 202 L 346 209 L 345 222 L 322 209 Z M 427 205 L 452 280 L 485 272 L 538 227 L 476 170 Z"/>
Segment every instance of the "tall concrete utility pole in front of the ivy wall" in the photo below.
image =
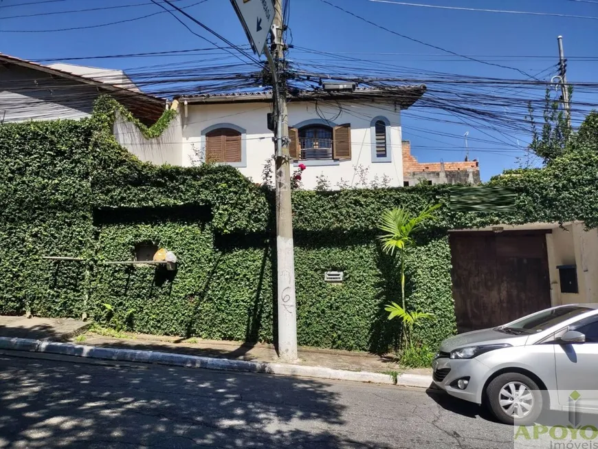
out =
<path fill-rule="evenodd" d="M 276 117 L 276 261 L 278 267 L 278 355 L 283 360 L 297 359 L 297 307 L 295 297 L 295 260 L 293 213 L 291 209 L 291 154 L 287 111 L 285 43 L 283 43 L 283 0 L 274 0 L 272 51 L 266 47 L 274 81 Z"/>

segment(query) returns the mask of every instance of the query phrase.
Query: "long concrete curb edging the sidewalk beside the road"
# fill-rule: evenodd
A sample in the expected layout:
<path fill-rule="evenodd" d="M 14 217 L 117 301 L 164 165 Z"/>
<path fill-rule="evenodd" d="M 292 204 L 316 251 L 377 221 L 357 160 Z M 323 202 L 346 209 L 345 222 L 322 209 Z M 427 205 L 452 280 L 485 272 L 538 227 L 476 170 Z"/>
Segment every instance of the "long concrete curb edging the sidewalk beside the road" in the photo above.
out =
<path fill-rule="evenodd" d="M 366 371 L 345 371 L 342 369 L 324 368 L 322 366 L 229 360 L 159 351 L 139 351 L 137 349 L 103 348 L 82 344 L 31 340 L 29 338 L 0 337 L 0 349 L 70 355 L 100 360 L 115 360 L 118 362 L 151 363 L 220 371 L 244 371 L 247 373 L 297 375 L 329 380 L 369 382 L 373 384 L 397 384 L 419 388 L 428 388 L 432 384 L 432 377 L 428 375 L 397 374 L 395 382 L 395 379 L 388 374 L 368 373 Z"/>

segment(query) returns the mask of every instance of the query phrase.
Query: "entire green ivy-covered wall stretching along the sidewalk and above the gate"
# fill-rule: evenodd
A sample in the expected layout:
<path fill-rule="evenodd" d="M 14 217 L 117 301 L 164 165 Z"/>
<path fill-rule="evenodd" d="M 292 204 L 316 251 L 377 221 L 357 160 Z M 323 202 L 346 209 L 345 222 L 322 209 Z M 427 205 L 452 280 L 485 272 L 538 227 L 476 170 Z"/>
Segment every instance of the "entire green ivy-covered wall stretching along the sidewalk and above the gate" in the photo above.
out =
<path fill-rule="evenodd" d="M 102 320 L 108 304 L 135 331 L 272 342 L 272 193 L 228 166 L 140 162 L 111 135 L 118 109 L 102 98 L 87 120 L 0 127 L 0 199 L 6 205 L 0 211 L 0 313 L 30 309 L 38 316 L 78 317 L 87 311 Z M 166 119 L 157 126 L 167 126 Z M 399 277 L 395 261 L 379 251 L 375 224 L 386 208 L 419 212 L 441 202 L 439 220 L 417 236 L 407 263 L 407 303 L 436 315 L 419 329 L 419 339 L 434 347 L 455 330 L 447 230 L 573 217 L 596 223 L 598 160 L 595 152 L 585 153 L 491 182 L 518 191 L 514 212 L 500 215 L 452 212 L 448 186 L 295 191 L 299 343 L 393 347 L 399 323 L 386 319 L 383 306 L 399 297 Z M 581 173 L 579 185 L 560 180 L 564 172 Z M 582 196 L 593 203 L 582 205 Z M 106 264 L 133 260 L 142 241 L 175 252 L 177 272 Z M 41 259 L 47 255 L 85 261 Z M 343 271 L 344 283 L 324 282 L 328 270 Z"/>

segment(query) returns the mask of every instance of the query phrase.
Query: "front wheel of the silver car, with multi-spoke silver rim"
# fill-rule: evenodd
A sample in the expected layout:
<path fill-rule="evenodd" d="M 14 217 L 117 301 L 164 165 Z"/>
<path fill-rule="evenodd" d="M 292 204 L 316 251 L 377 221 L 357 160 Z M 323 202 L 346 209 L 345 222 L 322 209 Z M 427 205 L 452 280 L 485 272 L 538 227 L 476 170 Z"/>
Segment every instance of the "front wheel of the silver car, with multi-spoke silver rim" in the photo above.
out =
<path fill-rule="evenodd" d="M 542 391 L 527 375 L 501 374 L 486 388 L 488 406 L 505 424 L 533 424 L 542 413 Z"/>

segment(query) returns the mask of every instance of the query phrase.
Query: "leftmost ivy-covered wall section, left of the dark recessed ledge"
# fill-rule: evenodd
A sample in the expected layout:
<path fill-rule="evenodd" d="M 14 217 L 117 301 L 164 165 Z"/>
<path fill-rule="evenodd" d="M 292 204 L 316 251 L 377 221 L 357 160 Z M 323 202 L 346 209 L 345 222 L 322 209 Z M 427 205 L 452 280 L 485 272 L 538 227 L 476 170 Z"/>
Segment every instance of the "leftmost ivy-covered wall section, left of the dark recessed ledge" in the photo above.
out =
<path fill-rule="evenodd" d="M 0 126 L 0 313 L 77 316 L 92 255 L 89 122 Z"/>

